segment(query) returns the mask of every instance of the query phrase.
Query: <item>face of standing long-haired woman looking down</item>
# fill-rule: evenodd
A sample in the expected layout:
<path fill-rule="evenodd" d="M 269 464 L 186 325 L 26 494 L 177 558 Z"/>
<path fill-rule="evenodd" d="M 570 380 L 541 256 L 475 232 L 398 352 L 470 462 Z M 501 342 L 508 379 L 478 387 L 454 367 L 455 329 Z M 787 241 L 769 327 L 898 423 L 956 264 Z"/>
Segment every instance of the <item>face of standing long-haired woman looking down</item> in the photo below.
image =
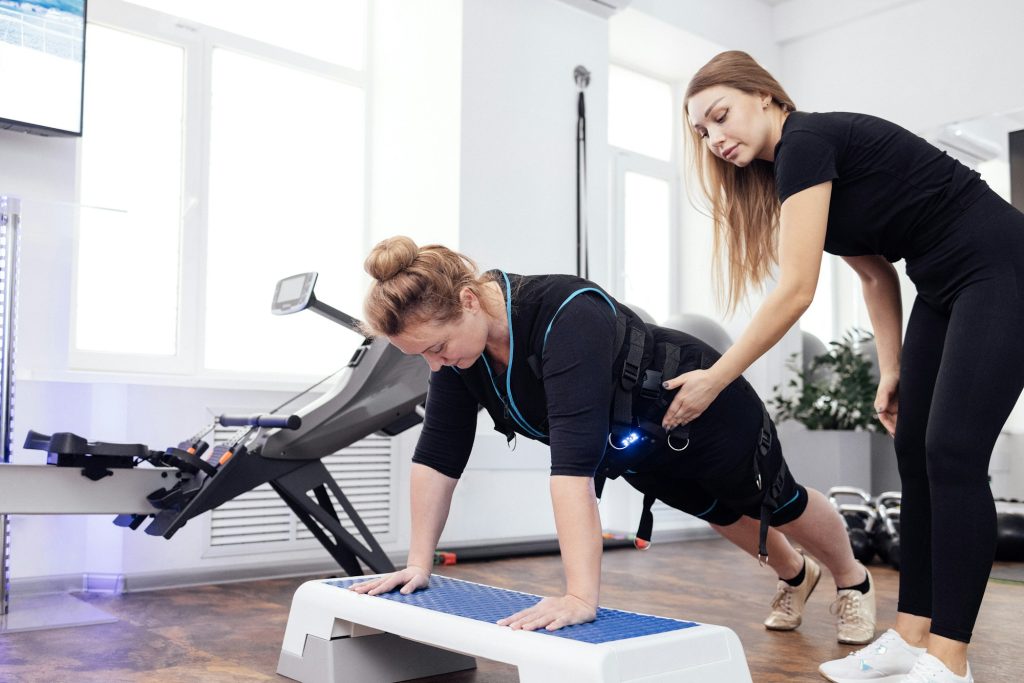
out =
<path fill-rule="evenodd" d="M 770 104 L 770 95 L 716 85 L 690 97 L 686 111 L 713 155 L 743 167 L 755 159 L 774 159 Z"/>

